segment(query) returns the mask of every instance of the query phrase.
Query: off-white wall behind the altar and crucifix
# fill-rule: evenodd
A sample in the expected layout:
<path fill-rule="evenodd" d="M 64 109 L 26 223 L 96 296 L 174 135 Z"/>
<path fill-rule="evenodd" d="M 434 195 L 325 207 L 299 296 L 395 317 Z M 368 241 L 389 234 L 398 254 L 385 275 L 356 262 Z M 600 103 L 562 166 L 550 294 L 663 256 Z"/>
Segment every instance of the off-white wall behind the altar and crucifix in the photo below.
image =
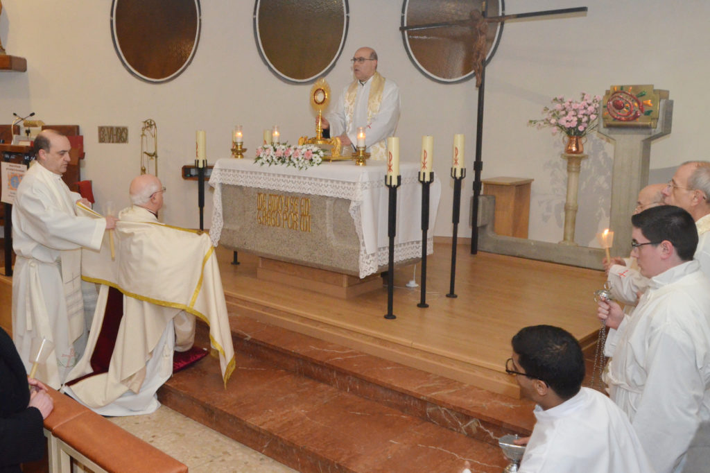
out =
<path fill-rule="evenodd" d="M 140 171 L 141 121 L 158 124 L 159 177 L 168 187 L 163 220 L 197 227 L 197 185 L 180 178 L 194 159 L 195 130 L 207 130 L 207 156 L 229 156 L 230 132 L 244 124 L 245 146 L 257 146 L 262 129 L 279 124 L 296 141 L 312 135 L 310 85 L 289 85 L 269 72 L 253 40 L 253 1 L 203 0 L 202 36 L 190 67 L 177 79 L 151 85 L 121 65 L 111 42 L 109 0 L 4 0 L 0 38 L 6 50 L 28 60 L 26 73 L 0 73 L 0 121 L 36 112 L 46 123 L 80 124 L 87 160 L 83 177 L 99 201 L 128 203 L 128 184 Z M 361 45 L 376 48 L 379 70 L 400 86 L 398 134 L 403 160 L 416 161 L 422 134 L 435 136 L 435 173 L 442 203 L 434 232 L 452 232 L 449 179 L 454 133 L 466 134 L 459 236 L 470 235 L 469 200 L 474 158 L 477 91 L 474 81 L 441 85 L 408 59 L 398 27 L 402 2 L 350 0 L 350 27 L 341 58 L 328 75 L 334 89 L 349 81 L 349 58 Z M 527 126 L 557 94 L 600 94 L 613 84 L 653 84 L 674 99 L 673 131 L 652 145 L 651 168 L 668 168 L 704 149 L 704 103 L 710 67 L 706 50 L 710 2 L 689 0 L 506 1 L 506 12 L 589 6 L 584 17 L 507 23 L 486 70 L 483 177 L 534 178 L 530 238 L 562 238 L 566 185 L 562 143 Z M 99 144 L 97 126 L 128 126 L 129 143 Z M 594 243 L 608 224 L 613 148 L 591 136 L 582 165 L 577 241 Z M 208 197 L 211 192 L 208 193 Z M 209 200 L 209 198 L 208 198 Z M 207 202 L 206 222 L 212 214 Z M 464 225 L 465 223 L 465 225 Z"/>

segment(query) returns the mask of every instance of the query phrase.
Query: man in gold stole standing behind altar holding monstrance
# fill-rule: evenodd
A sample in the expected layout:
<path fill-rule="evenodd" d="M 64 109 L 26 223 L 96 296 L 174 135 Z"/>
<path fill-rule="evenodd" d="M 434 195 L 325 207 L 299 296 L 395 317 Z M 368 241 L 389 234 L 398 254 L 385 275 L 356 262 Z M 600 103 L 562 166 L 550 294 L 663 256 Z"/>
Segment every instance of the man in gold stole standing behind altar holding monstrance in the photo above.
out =
<path fill-rule="evenodd" d="M 386 139 L 394 136 L 399 121 L 399 88 L 377 72 L 377 53 L 372 48 L 356 50 L 351 61 L 355 80 L 343 89 L 322 127 L 330 130 L 332 138 L 339 136 L 344 147 L 355 146 L 357 129 L 364 127 L 370 158 L 385 161 Z"/>

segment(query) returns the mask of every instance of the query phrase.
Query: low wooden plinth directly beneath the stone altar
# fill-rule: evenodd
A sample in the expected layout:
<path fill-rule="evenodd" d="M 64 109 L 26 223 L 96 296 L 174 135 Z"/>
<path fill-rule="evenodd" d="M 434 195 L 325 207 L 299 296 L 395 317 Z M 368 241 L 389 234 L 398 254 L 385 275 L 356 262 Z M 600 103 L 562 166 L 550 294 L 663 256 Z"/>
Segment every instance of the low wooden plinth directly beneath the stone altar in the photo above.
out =
<path fill-rule="evenodd" d="M 310 268 L 268 258 L 259 258 L 256 278 L 261 281 L 314 290 L 317 293 L 341 299 L 353 298 L 382 288 L 382 278 L 378 274 L 371 274 L 360 279 L 335 271 Z"/>

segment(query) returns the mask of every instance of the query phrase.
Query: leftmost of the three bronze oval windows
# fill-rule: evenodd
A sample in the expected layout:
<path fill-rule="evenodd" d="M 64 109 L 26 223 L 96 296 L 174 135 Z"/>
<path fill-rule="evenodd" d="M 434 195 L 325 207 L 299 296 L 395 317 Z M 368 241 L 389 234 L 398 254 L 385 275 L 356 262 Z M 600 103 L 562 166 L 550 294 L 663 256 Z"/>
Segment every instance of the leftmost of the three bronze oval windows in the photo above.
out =
<path fill-rule="evenodd" d="M 146 82 L 168 82 L 190 65 L 200 25 L 200 0 L 113 0 L 111 5 L 116 54 Z"/>

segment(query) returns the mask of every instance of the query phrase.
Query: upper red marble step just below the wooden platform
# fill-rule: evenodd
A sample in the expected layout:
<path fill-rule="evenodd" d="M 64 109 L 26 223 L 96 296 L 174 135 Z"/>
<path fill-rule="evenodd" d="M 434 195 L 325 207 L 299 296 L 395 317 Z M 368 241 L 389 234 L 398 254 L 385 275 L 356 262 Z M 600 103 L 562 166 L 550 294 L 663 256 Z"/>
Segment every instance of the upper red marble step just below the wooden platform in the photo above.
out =
<path fill-rule="evenodd" d="M 275 366 L 396 408 L 407 415 L 498 445 L 508 433 L 530 435 L 530 401 L 388 361 L 356 349 L 231 317 L 234 349 Z"/>

